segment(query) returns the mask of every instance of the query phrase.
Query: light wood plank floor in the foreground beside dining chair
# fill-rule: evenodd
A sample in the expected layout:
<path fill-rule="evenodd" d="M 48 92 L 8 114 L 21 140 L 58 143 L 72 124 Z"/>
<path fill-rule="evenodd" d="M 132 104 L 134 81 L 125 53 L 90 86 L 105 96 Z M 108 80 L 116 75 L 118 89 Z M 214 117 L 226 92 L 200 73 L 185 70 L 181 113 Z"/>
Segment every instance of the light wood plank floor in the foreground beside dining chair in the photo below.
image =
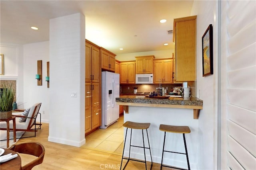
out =
<path fill-rule="evenodd" d="M 46 153 L 42 164 L 35 166 L 33 170 L 101 170 L 120 169 L 122 154 L 108 152 L 99 149 L 86 147 L 72 147 L 48 141 L 49 125 L 43 123 L 42 129 L 38 130 L 36 137 L 20 139 L 17 143 L 39 142 L 44 145 Z M 24 135 L 29 135 L 26 132 Z M 21 154 L 22 164 L 32 160 L 33 156 Z M 123 165 L 127 160 L 124 160 Z M 150 169 L 150 162 L 147 163 Z M 145 164 L 142 162 L 130 161 L 126 170 L 143 170 Z M 163 168 L 163 170 L 170 168 Z M 153 163 L 152 170 L 160 170 L 160 164 Z"/>

